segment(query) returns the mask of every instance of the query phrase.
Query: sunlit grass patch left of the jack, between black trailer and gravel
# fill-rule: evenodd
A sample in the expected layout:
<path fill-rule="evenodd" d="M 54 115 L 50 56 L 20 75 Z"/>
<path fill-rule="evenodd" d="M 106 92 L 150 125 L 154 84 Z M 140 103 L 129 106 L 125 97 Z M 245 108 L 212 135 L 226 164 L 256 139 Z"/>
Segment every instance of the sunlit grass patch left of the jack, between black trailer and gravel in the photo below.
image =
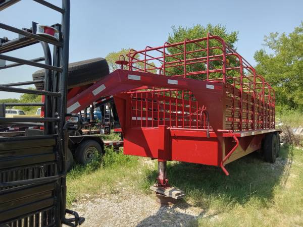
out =
<path fill-rule="evenodd" d="M 124 155 L 122 150 L 106 148 L 103 157 L 83 165 L 74 166 L 67 175 L 67 205 L 83 194 L 112 193 L 119 190 L 117 184 L 137 175 L 137 157 Z M 126 182 L 125 182 L 126 185 Z"/>

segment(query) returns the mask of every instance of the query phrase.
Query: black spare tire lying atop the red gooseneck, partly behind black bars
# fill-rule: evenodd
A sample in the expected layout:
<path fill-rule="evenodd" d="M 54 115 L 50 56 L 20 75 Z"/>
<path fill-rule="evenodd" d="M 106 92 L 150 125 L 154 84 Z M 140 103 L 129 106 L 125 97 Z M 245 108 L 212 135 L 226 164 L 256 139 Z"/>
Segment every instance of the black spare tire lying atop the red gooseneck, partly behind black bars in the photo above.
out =
<path fill-rule="evenodd" d="M 104 58 L 89 59 L 68 65 L 68 88 L 91 84 L 110 73 L 109 65 Z M 44 80 L 45 70 L 33 73 L 33 80 Z M 38 90 L 44 90 L 44 83 L 35 84 Z"/>

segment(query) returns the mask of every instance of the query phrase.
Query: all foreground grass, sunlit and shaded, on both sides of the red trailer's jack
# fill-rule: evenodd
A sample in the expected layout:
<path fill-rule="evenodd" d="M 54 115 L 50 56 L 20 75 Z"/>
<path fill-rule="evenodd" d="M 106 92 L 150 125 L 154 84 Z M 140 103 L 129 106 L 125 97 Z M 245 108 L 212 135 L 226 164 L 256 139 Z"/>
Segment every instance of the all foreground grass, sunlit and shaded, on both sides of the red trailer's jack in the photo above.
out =
<path fill-rule="evenodd" d="M 69 205 L 81 194 L 119 193 L 123 187 L 153 196 L 156 161 L 107 149 L 102 161 L 76 166 L 68 174 Z M 185 191 L 184 203 L 205 209 L 192 226 L 301 226 L 303 225 L 303 150 L 283 147 L 273 165 L 252 153 L 220 168 L 169 162 L 168 179 Z"/>

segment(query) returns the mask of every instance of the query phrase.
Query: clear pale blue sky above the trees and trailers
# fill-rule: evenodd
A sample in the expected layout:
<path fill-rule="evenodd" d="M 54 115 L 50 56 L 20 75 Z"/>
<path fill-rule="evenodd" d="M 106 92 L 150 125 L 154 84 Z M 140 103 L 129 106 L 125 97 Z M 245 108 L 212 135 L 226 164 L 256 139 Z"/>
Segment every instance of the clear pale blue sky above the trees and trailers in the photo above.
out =
<path fill-rule="evenodd" d="M 48 1 L 61 6 L 61 1 Z M 71 0 L 70 62 L 105 57 L 121 48 L 159 46 L 167 40 L 173 25 L 190 27 L 211 23 L 225 25 L 228 31 L 239 31 L 237 50 L 255 65 L 254 53 L 264 48 L 264 35 L 293 31 L 303 20 L 302 9 L 301 0 Z M 22 0 L 0 12 L 0 21 L 29 28 L 32 21 L 52 25 L 60 23 L 61 17 L 31 0 Z M 0 36 L 13 39 L 17 34 L 0 29 Z M 6 54 L 33 59 L 42 56 L 42 48 L 36 44 Z M 1 70 L 1 84 L 31 80 L 36 70 L 29 66 Z M 19 96 L 0 92 L 0 99 Z"/>

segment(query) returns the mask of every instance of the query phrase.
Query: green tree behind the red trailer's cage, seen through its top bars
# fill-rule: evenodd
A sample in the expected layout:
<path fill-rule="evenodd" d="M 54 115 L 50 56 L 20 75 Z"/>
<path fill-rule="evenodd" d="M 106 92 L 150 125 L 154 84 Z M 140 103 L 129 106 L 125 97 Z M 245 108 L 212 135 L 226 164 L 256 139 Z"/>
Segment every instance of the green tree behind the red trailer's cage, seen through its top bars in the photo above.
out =
<path fill-rule="evenodd" d="M 182 26 L 179 26 L 179 27 L 173 26 L 172 30 L 173 30 L 172 33 L 170 33 L 169 37 L 168 37 L 169 43 L 182 42 L 185 39 L 192 40 L 192 39 L 207 37 L 208 33 L 211 33 L 212 35 L 220 36 L 232 48 L 235 48 L 234 44 L 238 40 L 237 31 L 227 32 L 226 27 L 222 26 L 220 24 L 214 25 L 214 26 L 211 24 L 208 24 L 206 26 L 197 24 L 197 25 L 194 25 L 189 28 L 182 27 Z M 200 46 L 197 46 L 196 44 L 193 44 L 193 43 L 187 44 L 186 51 L 193 51 L 193 50 L 197 50 L 197 49 L 201 49 L 201 48 L 206 48 L 207 42 L 206 41 L 199 42 L 199 45 Z M 216 40 L 210 40 L 209 46 L 210 47 L 220 46 L 220 43 Z M 170 48 L 168 48 L 168 52 L 170 54 L 182 53 L 184 46 L 181 45 L 180 47 L 181 47 L 181 50 L 177 49 L 175 47 L 170 47 Z M 210 50 L 210 55 L 216 55 L 216 54 L 222 54 L 222 51 L 219 49 Z M 206 51 L 193 52 L 191 54 L 187 54 L 186 58 L 187 59 L 193 58 L 193 55 L 195 58 L 201 58 L 201 57 L 205 57 L 207 55 L 207 52 Z M 184 60 L 184 55 L 180 54 L 180 55 L 176 55 L 176 56 L 178 59 Z M 172 57 L 166 58 L 166 62 L 173 62 L 173 61 L 176 61 L 176 59 L 172 58 Z M 237 66 L 238 63 L 235 61 L 234 58 L 229 57 L 229 64 L 234 67 L 234 66 Z M 187 72 L 197 71 L 197 68 L 199 68 L 201 70 L 205 70 L 206 65 L 204 63 L 187 65 L 186 71 Z M 220 63 L 219 61 L 211 62 L 210 68 L 212 68 L 212 69 L 222 68 L 222 63 Z M 172 67 L 172 68 L 167 69 L 167 72 L 169 72 L 171 75 L 183 74 L 182 71 L 184 71 L 184 68 L 182 68 L 182 67 Z M 233 73 L 233 72 L 229 71 L 228 73 Z M 212 75 L 212 77 L 217 77 L 217 76 L 220 76 L 220 75 L 215 75 L 215 74 Z M 197 75 L 197 76 L 190 76 L 190 77 L 194 78 L 194 79 L 206 79 L 206 75 Z"/>

